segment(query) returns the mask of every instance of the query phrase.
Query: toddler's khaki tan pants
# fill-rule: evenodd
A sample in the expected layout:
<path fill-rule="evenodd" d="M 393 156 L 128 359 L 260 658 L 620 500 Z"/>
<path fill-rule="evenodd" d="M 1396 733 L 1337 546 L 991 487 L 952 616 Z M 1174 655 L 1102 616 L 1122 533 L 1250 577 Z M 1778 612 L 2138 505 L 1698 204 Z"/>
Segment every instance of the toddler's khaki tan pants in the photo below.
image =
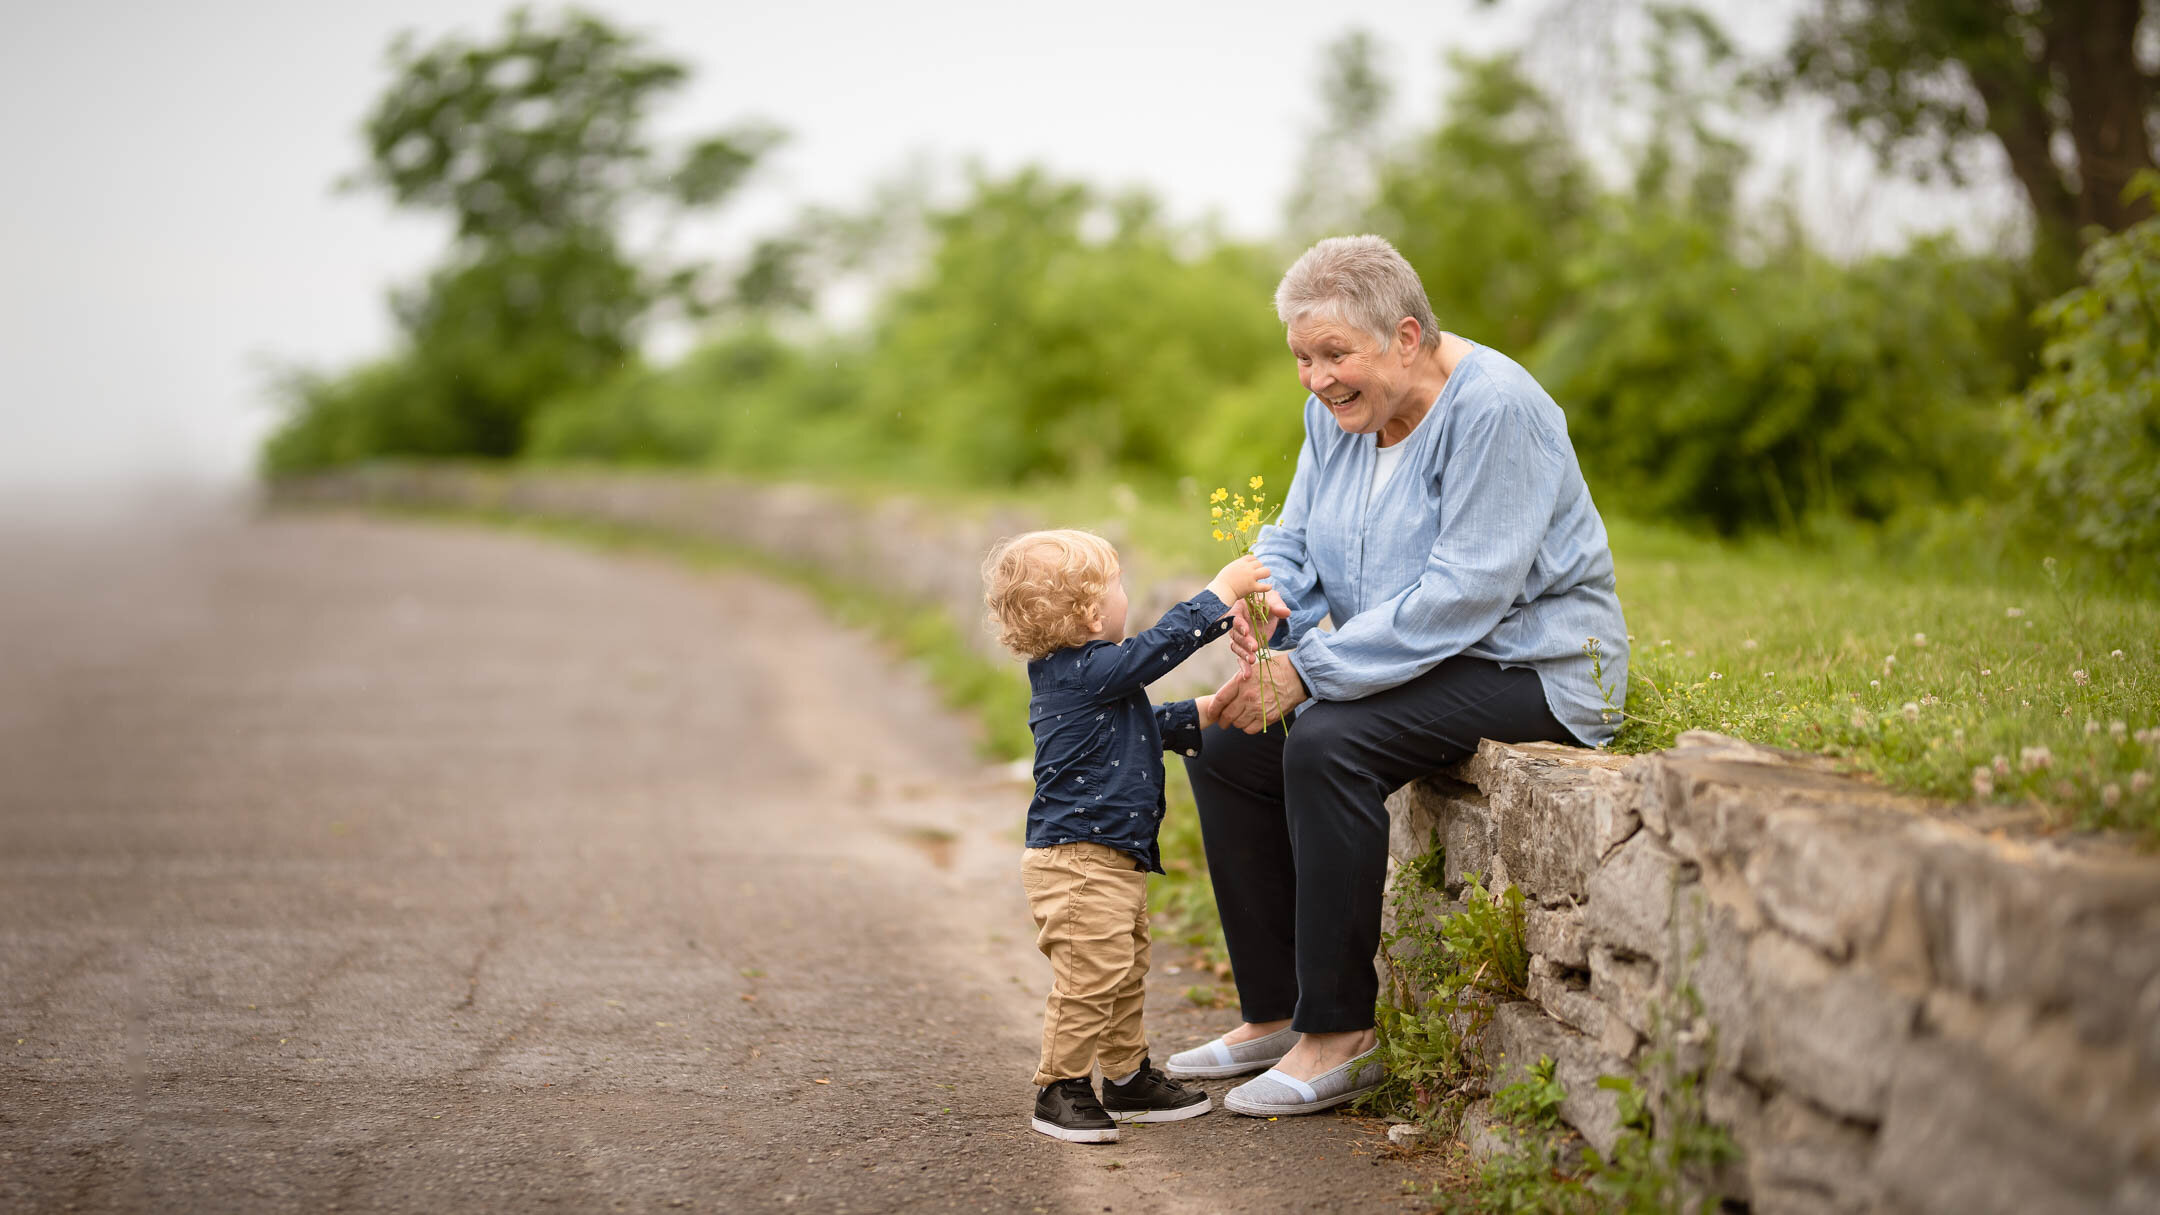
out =
<path fill-rule="evenodd" d="M 1123 1077 L 1147 1057 L 1140 997 L 1147 988 L 1147 873 L 1099 843 L 1030 847 L 1020 884 L 1035 912 L 1035 947 L 1050 958 L 1043 1059 L 1035 1083 Z"/>

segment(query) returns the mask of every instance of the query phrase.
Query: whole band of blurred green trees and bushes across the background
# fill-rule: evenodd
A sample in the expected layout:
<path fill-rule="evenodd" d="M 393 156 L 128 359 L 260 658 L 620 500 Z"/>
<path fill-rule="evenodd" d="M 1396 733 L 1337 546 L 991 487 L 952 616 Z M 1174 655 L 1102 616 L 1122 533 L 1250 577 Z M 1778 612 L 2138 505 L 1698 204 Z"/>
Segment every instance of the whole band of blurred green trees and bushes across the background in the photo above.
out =
<path fill-rule="evenodd" d="M 2160 586 L 2151 221 L 2054 303 L 2033 262 L 1950 240 L 1827 257 L 1791 216 L 1734 203 L 1747 156 L 1730 93 L 1704 86 L 1732 76 L 1715 26 L 1657 9 L 1657 35 L 1624 173 L 1594 171 L 1506 54 L 1454 58 L 1439 121 L 1372 138 L 1385 80 L 1348 39 L 1333 71 L 1356 89 L 1313 158 L 1356 169 L 1369 201 L 1328 223 L 1395 240 L 1447 329 L 1538 374 L 1609 515 L 1786 538 L 1858 521 L 1922 553 L 1983 532 Z M 806 218 L 732 285 L 626 249 L 624 216 L 726 199 L 778 138 L 657 147 L 644 125 L 680 63 L 596 17 L 518 13 L 495 41 L 400 41 L 391 71 L 356 184 L 458 236 L 393 301 L 402 350 L 285 383 L 270 473 L 374 456 L 916 486 L 1290 471 L 1302 393 L 1270 290 L 1300 240 L 1223 240 L 1039 169 L 976 175 L 920 212 L 870 322 L 834 333 L 797 305 L 845 259 L 834 233 L 860 257 L 864 233 L 896 242 L 892 214 Z M 1298 197 L 1307 221 L 1333 205 L 1320 184 Z M 652 365 L 639 333 L 667 313 L 711 335 Z"/>

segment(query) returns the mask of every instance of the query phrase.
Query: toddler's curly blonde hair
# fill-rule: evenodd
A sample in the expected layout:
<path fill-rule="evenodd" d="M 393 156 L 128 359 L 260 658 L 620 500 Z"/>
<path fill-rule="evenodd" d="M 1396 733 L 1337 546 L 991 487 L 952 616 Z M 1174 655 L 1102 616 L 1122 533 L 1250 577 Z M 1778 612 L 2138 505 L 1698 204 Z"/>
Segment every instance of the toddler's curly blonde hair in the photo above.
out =
<path fill-rule="evenodd" d="M 1089 640 L 1117 575 L 1117 549 L 1095 532 L 1058 528 L 1000 543 L 983 560 L 983 605 L 998 644 L 1032 659 Z"/>

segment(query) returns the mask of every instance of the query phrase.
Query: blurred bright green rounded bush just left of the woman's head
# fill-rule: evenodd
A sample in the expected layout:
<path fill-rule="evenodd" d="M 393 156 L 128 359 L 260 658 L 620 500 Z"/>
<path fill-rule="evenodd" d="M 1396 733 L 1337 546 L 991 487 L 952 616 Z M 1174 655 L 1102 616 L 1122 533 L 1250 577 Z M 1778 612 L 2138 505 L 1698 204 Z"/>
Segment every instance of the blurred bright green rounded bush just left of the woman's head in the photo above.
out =
<path fill-rule="evenodd" d="M 864 417 L 888 469 L 991 484 L 1171 471 L 1199 391 L 1283 357 L 1277 268 L 1236 244 L 1186 253 L 1145 195 L 1022 171 L 978 182 L 931 233 L 868 355 Z"/>

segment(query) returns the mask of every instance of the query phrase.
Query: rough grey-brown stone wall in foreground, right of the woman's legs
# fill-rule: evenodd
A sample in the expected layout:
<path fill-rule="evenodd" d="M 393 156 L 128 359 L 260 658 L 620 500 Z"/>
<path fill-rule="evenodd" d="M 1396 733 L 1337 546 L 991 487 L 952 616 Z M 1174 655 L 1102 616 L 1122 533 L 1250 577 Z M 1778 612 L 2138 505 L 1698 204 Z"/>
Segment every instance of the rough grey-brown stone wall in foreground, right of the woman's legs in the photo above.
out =
<path fill-rule="evenodd" d="M 1551 1057 L 1596 1148 L 1620 1133 L 1596 1079 L 1661 1033 L 1754 1211 L 2160 1211 L 2160 860 L 1711 733 L 1486 742 L 1391 811 L 1398 863 L 1439 839 L 1454 893 L 1525 893 L 1531 999 L 1495 1014 L 1493 1083 Z"/>

